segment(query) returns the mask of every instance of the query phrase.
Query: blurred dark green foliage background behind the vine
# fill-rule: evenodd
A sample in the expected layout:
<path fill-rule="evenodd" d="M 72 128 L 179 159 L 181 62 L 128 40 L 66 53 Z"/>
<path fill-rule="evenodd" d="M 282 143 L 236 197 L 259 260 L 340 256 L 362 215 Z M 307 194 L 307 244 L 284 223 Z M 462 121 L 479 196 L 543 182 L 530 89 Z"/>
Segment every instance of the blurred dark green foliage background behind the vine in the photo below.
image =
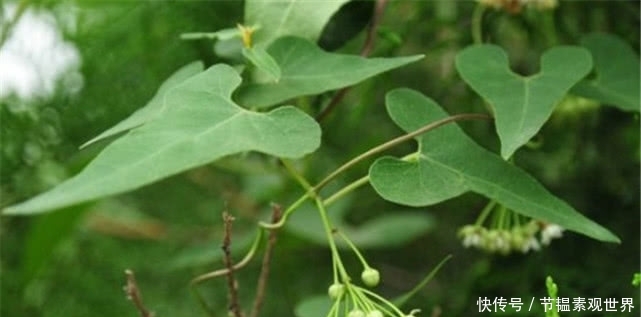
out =
<path fill-rule="evenodd" d="M 383 96 L 392 88 L 417 89 L 450 113 L 485 111 L 454 69 L 455 54 L 472 42 L 474 6 L 455 1 L 390 3 L 372 55 L 426 54 L 426 58 L 353 88 L 323 122 L 324 147 L 301 169 L 318 180 L 347 159 L 399 135 L 383 107 Z M 371 6 L 363 7 L 352 4 L 349 11 L 342 11 L 343 19 L 330 23 L 321 36 L 324 47 L 338 49 L 336 43 L 346 41 L 340 51 L 358 52 L 364 34 L 346 40 L 344 33 L 356 34 L 354 29 L 363 28 Z M 211 42 L 181 41 L 179 35 L 234 26 L 242 20 L 243 7 L 239 1 L 77 0 L 42 2 L 33 9 L 53 12 L 67 39 L 76 44 L 84 88 L 69 95 L 60 84 L 47 100 L 0 101 L 2 206 L 76 173 L 101 145 L 81 152 L 77 147 L 144 105 L 180 66 L 195 59 L 207 66 L 223 61 Z M 75 18 L 73 28 L 64 23 L 69 15 Z M 492 43 L 510 52 L 514 69 L 533 73 L 540 53 L 550 46 L 577 44 L 583 35 L 597 31 L 616 34 L 638 55 L 639 3 L 561 1 L 549 14 L 488 11 L 484 29 Z M 329 96 L 298 103 L 316 113 Z M 477 142 L 498 151 L 493 127 L 482 122 L 462 127 Z M 434 221 L 430 233 L 402 245 L 365 250 L 370 264 L 381 271 L 381 292 L 396 296 L 411 289 L 443 257 L 453 254 L 408 307 L 419 307 L 424 315 L 441 311 L 443 316 L 488 316 L 478 313 L 479 297 L 521 297 L 528 302 L 546 295 L 549 275 L 562 296 L 633 297 L 636 308 L 630 315 L 638 315 L 641 299 L 629 282 L 641 266 L 638 114 L 578 101 L 564 103 L 536 139 L 539 148 L 517 152 L 519 166 L 617 234 L 622 244 L 568 233 L 551 247 L 527 255 L 491 256 L 464 249 L 456 231 L 473 221 L 485 204 L 481 197 L 467 194 L 411 210 Z M 402 145 L 391 153 L 406 153 L 411 146 Z M 237 218 L 232 249 L 239 259 L 269 202 L 288 204 L 301 194 L 277 170 L 276 162 L 248 154 L 242 163 L 222 160 L 97 203 L 31 218 L 2 218 L 0 314 L 136 316 L 122 292 L 123 271 L 131 268 L 146 304 L 157 316 L 204 315 L 188 282 L 222 266 L 221 211 L 226 208 Z M 366 171 L 367 164 L 360 164 L 344 180 Z M 358 225 L 398 206 L 363 188 L 345 209 L 349 211 L 344 221 Z M 264 316 L 292 316 L 298 303 L 324 293 L 331 282 L 329 252 L 298 232 L 286 228 L 279 236 Z M 356 259 L 347 262 L 358 271 Z M 253 297 L 258 268 L 259 261 L 254 261 L 237 274 L 244 304 Z M 200 289 L 224 316 L 224 281 L 207 282 Z M 518 314 L 542 315 L 542 309 Z"/>

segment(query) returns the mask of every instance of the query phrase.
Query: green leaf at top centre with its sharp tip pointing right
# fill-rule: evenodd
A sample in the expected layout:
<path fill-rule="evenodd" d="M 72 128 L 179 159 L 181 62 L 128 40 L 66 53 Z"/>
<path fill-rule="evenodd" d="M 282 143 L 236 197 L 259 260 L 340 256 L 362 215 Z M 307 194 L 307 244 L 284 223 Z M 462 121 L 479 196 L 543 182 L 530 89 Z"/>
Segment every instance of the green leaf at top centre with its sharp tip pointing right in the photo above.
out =
<path fill-rule="evenodd" d="M 267 52 L 280 67 L 280 80 L 241 87 L 238 95 L 241 105 L 267 107 L 294 97 L 354 85 L 422 58 L 408 56 L 367 59 L 355 55 L 333 54 L 295 37 L 278 39 Z"/>

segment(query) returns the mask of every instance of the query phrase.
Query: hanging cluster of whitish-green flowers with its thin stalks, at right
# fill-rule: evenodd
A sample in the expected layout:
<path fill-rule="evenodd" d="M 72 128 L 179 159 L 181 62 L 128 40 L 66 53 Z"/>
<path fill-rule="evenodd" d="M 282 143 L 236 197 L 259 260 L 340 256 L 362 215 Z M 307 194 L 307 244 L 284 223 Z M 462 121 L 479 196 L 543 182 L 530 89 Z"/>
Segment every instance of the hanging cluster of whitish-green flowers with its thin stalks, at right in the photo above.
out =
<path fill-rule="evenodd" d="M 556 224 L 525 219 L 513 211 L 490 203 L 479 215 L 476 223 L 463 226 L 458 235 L 463 246 L 484 250 L 490 253 L 510 254 L 518 251 L 527 253 L 539 251 L 552 240 L 563 236 L 563 228 Z M 493 213 L 491 228 L 483 226 Z"/>

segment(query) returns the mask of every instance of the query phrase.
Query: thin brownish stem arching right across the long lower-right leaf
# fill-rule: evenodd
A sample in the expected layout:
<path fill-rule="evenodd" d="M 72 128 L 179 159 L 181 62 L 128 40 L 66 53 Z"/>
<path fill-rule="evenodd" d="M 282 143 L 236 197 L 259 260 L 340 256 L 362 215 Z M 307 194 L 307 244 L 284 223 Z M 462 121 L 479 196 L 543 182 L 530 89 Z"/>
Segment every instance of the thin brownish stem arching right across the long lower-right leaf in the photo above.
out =
<path fill-rule="evenodd" d="M 430 130 L 434 130 L 440 126 L 443 126 L 445 124 L 448 124 L 450 122 L 454 121 L 462 121 L 462 120 L 473 120 L 473 119 L 490 119 L 491 117 L 486 115 L 486 114 L 479 114 L 479 113 L 464 113 L 464 114 L 457 114 L 453 115 L 447 118 L 443 118 L 438 121 L 434 121 L 422 128 L 419 128 L 418 130 L 415 130 L 414 132 L 405 134 L 403 136 L 400 136 L 398 138 L 395 138 L 393 140 L 387 141 L 379 146 L 376 146 L 361 155 L 351 159 L 349 162 L 343 164 L 341 167 L 337 168 L 334 172 L 329 174 L 327 177 L 325 177 L 323 180 L 321 180 L 316 186 L 313 188 L 313 192 L 318 193 L 325 185 L 327 185 L 330 181 L 332 181 L 334 178 L 336 178 L 338 175 L 340 175 L 342 172 L 348 170 L 352 166 L 358 164 L 360 161 L 374 155 L 378 154 L 382 151 L 385 151 L 389 148 L 392 148 L 398 144 L 401 144 L 405 141 L 411 140 L 425 132 L 428 132 Z"/>

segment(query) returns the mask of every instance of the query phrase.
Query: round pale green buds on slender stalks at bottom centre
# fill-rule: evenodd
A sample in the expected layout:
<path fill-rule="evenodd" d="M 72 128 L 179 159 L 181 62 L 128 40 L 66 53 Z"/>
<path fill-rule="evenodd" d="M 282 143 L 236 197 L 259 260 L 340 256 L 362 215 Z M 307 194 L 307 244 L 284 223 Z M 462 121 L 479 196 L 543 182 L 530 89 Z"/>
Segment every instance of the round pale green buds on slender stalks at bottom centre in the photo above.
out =
<path fill-rule="evenodd" d="M 376 287 L 381 280 L 378 270 L 370 267 L 356 246 L 342 233 L 338 233 L 351 247 L 358 259 L 363 264 L 361 281 L 366 287 L 360 287 L 351 282 L 338 253 L 333 254 L 334 283 L 327 290 L 329 297 L 334 301 L 328 317 L 415 317 L 420 312 L 414 309 L 403 313 L 396 305 L 367 289 Z"/>

